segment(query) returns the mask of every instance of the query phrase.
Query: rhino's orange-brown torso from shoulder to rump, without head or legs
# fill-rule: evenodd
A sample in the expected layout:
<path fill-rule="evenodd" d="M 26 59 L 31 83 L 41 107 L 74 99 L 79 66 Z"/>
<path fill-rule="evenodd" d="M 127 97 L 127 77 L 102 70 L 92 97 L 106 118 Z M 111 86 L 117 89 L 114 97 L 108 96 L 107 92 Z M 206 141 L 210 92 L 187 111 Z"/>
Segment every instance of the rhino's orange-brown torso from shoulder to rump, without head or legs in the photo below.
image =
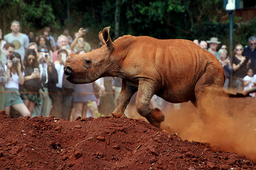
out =
<path fill-rule="evenodd" d="M 212 70 L 209 76 L 225 79 L 217 58 L 189 40 L 127 35 L 119 37 L 115 45 L 127 52 L 122 61 L 124 78 L 157 82 L 157 95 L 169 102 L 189 101 L 195 96 L 198 80 L 209 69 Z"/>

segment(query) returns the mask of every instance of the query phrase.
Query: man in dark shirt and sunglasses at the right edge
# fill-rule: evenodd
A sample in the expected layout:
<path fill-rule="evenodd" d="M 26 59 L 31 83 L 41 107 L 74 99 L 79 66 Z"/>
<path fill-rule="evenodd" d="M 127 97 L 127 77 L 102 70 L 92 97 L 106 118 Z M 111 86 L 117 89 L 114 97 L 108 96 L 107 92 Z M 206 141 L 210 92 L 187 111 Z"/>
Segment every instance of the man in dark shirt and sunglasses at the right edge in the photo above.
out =
<path fill-rule="evenodd" d="M 246 56 L 246 58 L 251 58 L 251 67 L 253 68 L 253 72 L 256 73 L 256 37 L 251 36 L 248 39 L 248 45 L 244 48 L 244 51 L 242 53 L 243 56 Z"/>

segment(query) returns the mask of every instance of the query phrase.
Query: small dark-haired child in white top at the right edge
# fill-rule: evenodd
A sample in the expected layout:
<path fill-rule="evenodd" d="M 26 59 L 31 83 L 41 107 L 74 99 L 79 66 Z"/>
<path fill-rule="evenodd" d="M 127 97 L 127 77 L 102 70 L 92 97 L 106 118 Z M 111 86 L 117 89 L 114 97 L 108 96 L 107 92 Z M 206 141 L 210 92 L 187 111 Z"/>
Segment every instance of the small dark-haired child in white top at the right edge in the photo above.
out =
<path fill-rule="evenodd" d="M 244 90 L 249 90 L 256 85 L 256 75 L 253 76 L 253 69 L 249 68 L 247 75 L 243 78 Z M 250 93 L 250 96 L 255 97 L 255 93 Z"/>

